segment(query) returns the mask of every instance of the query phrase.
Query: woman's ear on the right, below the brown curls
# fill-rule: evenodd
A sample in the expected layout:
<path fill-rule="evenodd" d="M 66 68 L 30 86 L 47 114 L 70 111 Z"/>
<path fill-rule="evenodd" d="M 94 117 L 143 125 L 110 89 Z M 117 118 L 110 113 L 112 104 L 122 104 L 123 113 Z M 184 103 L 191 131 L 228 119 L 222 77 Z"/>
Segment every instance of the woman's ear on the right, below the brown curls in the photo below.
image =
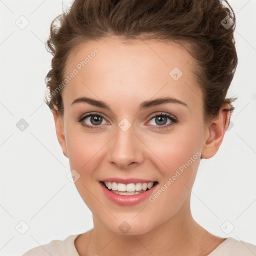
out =
<path fill-rule="evenodd" d="M 205 128 L 205 143 L 201 151 L 201 158 L 210 158 L 216 154 L 223 140 L 230 122 L 230 105 L 220 107 L 216 118 L 210 121 Z"/>

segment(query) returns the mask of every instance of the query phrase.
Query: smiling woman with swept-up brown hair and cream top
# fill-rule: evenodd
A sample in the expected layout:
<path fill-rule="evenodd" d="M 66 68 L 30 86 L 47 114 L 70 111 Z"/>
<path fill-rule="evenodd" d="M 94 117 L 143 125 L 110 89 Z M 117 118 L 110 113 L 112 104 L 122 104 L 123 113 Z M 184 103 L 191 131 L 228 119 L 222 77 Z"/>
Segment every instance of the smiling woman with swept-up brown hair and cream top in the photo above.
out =
<path fill-rule="evenodd" d="M 256 254 L 190 210 L 200 159 L 217 152 L 234 110 L 226 4 L 74 0 L 52 21 L 45 101 L 93 228 L 24 256 Z"/>

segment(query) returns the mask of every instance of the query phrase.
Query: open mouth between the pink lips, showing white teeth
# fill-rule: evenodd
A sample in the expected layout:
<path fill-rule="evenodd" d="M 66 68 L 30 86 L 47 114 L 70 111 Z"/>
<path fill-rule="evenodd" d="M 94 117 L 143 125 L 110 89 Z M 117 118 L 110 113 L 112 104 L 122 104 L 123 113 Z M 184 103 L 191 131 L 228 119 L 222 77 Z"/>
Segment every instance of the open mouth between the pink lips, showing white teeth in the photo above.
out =
<path fill-rule="evenodd" d="M 149 183 L 130 183 L 130 184 L 123 184 L 118 186 L 118 183 L 113 182 L 115 184 L 112 184 L 112 182 L 106 182 L 106 181 L 99 181 L 108 191 L 115 193 L 115 194 L 120 194 L 120 195 L 134 195 L 134 194 L 139 194 L 143 193 L 147 190 L 150 190 L 154 188 L 155 185 L 158 184 L 158 181 L 153 181 Z M 111 185 L 109 184 L 111 183 Z M 126 186 L 126 185 L 129 185 Z M 128 191 L 127 191 L 128 190 Z"/>

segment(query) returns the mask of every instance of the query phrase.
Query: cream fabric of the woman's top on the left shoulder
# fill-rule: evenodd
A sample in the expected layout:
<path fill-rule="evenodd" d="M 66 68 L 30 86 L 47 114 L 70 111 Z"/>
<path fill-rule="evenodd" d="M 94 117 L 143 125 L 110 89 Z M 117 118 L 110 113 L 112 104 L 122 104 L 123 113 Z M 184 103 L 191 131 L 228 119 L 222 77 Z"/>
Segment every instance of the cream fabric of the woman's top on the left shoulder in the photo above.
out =
<path fill-rule="evenodd" d="M 22 256 L 79 256 L 74 246 L 74 239 L 80 234 L 71 234 L 64 240 L 51 240 L 47 244 L 29 249 Z"/>

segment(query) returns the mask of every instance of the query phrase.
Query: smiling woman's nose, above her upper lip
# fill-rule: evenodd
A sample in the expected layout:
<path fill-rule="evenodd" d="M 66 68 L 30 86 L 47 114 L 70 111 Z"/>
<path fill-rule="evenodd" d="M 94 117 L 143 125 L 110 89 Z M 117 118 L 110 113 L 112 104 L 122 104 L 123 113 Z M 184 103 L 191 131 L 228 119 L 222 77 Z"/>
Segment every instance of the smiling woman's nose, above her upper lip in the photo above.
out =
<path fill-rule="evenodd" d="M 117 127 L 116 130 L 108 145 L 108 161 L 115 164 L 118 169 L 127 169 L 140 164 L 143 161 L 145 145 L 138 139 L 133 127 L 129 127 L 126 131 Z"/>

